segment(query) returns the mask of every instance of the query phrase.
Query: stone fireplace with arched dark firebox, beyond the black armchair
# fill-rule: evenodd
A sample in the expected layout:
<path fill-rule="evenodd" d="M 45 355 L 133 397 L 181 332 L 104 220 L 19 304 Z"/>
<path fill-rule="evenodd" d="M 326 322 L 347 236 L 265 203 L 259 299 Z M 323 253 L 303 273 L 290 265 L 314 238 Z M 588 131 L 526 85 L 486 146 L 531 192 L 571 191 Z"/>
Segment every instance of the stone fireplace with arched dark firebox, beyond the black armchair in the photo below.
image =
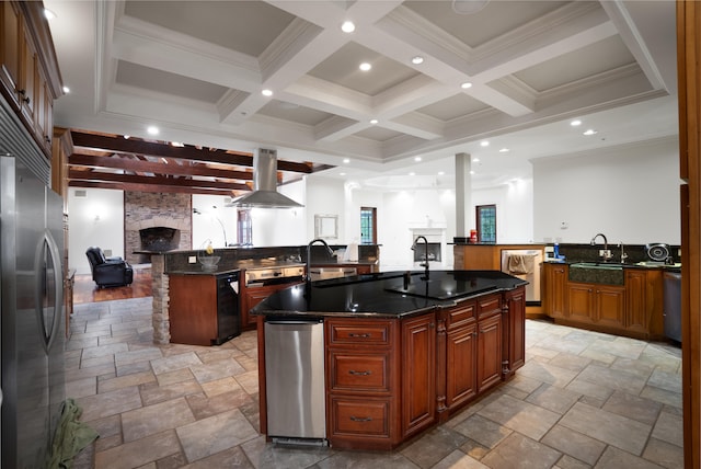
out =
<path fill-rule="evenodd" d="M 125 258 L 131 264 L 151 262 L 148 252 L 192 249 L 189 194 L 124 193 Z"/>

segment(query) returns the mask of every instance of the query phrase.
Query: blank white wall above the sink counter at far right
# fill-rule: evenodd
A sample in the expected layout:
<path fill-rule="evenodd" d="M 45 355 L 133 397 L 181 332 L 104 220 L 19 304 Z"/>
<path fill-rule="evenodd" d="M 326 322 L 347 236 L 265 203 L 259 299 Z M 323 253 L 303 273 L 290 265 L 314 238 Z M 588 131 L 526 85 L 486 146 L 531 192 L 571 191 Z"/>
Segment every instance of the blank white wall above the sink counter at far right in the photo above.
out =
<path fill-rule="evenodd" d="M 537 241 L 680 244 L 676 139 L 532 163 Z"/>

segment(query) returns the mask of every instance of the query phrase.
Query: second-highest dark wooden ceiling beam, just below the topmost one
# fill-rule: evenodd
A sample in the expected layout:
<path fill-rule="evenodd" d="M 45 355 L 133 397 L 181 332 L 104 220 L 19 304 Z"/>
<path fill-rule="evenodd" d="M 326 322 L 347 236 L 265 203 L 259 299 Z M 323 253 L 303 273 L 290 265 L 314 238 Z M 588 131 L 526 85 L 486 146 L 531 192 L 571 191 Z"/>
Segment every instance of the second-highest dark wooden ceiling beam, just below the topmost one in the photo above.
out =
<path fill-rule="evenodd" d="M 73 155 L 68 158 L 68 164 L 70 167 L 111 168 L 153 174 L 199 175 L 229 180 L 253 181 L 253 173 L 248 171 L 229 171 L 207 167 L 168 164 L 162 162 L 157 163 L 151 161 L 140 161 L 125 158 L 93 157 L 88 155 L 80 155 L 80 150 L 74 151 Z"/>

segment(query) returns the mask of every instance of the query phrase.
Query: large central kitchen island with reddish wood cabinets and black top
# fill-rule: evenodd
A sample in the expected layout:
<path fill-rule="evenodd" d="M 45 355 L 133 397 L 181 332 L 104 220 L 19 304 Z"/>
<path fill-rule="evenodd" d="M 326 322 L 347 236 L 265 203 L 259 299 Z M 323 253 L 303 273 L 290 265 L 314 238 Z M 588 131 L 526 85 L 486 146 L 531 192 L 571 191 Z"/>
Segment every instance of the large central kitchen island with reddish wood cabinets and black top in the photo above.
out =
<path fill-rule="evenodd" d="M 430 272 L 428 279 L 424 272 L 391 272 L 273 294 L 251 311 L 258 322 L 261 432 L 268 433 L 268 419 L 278 416 L 268 415 L 266 321 L 323 322 L 324 376 L 315 379 L 325 399 L 314 407 L 325 405 L 325 441 L 389 450 L 524 365 L 525 285 L 496 271 Z M 300 402 L 289 393 L 290 405 Z"/>

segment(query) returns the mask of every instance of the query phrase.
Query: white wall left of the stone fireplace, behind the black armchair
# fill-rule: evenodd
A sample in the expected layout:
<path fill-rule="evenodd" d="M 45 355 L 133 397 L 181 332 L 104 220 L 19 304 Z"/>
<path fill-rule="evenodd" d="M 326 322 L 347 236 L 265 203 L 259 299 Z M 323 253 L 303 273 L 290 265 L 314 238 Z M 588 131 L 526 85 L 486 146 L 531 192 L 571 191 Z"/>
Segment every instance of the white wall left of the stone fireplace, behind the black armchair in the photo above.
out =
<path fill-rule="evenodd" d="M 77 197 L 76 191 L 85 196 Z M 102 248 L 107 256 L 125 256 L 122 191 L 70 187 L 68 220 L 68 265 L 77 274 L 90 274 L 85 251 L 91 245 Z"/>

